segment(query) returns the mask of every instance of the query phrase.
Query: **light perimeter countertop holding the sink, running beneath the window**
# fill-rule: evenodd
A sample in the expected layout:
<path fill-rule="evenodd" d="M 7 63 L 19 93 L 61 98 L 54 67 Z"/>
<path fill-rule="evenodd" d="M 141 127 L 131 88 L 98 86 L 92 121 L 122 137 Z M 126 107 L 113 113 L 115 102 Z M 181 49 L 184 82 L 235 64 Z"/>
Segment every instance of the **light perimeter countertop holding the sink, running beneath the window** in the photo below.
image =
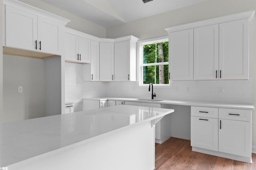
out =
<path fill-rule="evenodd" d="M 146 102 L 146 103 L 174 104 L 174 105 L 184 105 L 184 106 L 222 107 L 222 108 L 231 108 L 231 109 L 254 110 L 254 106 L 251 104 L 234 104 L 234 103 L 188 101 L 188 100 L 148 101 L 148 100 L 138 100 L 138 98 L 113 98 L 113 97 L 84 98 L 84 100 L 119 100 L 119 101 L 129 101 L 129 102 Z"/>

